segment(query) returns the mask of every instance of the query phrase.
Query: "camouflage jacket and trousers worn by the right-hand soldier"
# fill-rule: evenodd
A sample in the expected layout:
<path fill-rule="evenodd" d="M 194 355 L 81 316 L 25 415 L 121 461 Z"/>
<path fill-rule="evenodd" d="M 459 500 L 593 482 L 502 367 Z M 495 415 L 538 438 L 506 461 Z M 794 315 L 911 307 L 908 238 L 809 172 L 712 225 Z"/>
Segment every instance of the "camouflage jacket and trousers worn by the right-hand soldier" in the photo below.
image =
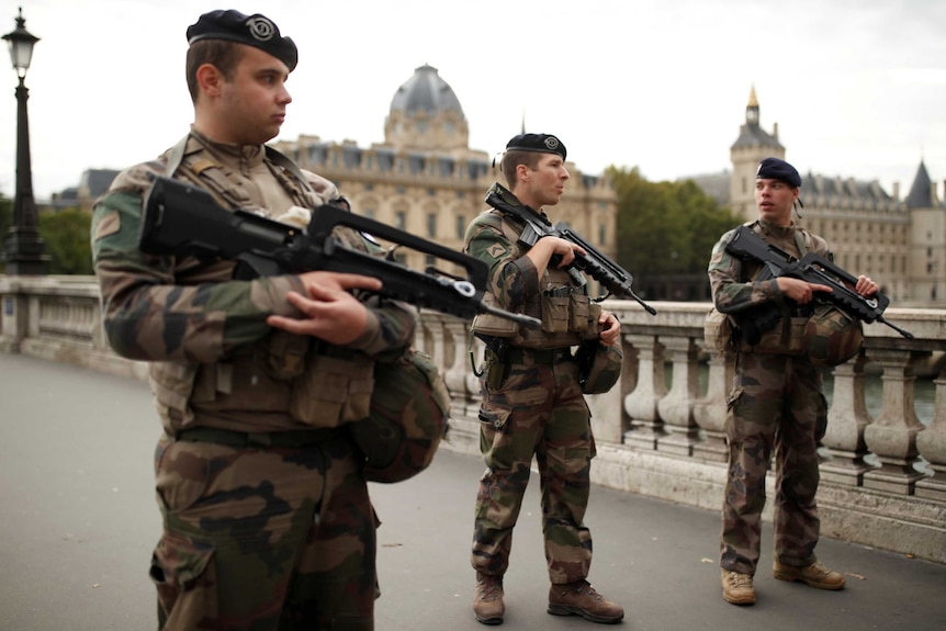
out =
<path fill-rule="evenodd" d="M 793 257 L 813 251 L 831 258 L 827 244 L 792 224 L 751 224 L 767 243 Z M 716 307 L 725 314 L 774 302 L 781 322 L 759 343 L 736 343 L 736 368 L 725 431 L 729 475 L 722 509 L 720 565 L 754 575 L 759 556 L 765 475 L 775 450 L 775 560 L 797 567 L 817 561 L 815 506 L 818 442 L 824 435 L 827 404 L 821 369 L 799 350 L 803 314 L 782 297 L 775 279 L 753 281 L 759 267 L 725 252 L 732 232 L 713 248 L 709 279 Z M 792 317 L 799 316 L 799 317 Z"/>

